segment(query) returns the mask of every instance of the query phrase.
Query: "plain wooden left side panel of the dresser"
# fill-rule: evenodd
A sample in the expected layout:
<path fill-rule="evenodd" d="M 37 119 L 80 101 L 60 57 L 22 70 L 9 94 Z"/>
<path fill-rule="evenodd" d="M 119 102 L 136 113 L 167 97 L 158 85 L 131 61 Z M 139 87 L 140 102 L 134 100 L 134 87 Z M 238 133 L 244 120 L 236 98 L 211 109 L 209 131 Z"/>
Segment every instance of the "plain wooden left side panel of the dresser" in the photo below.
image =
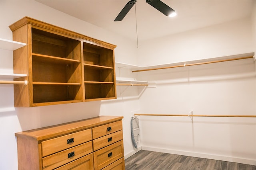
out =
<path fill-rule="evenodd" d="M 38 141 L 17 137 L 18 145 L 18 170 L 40 170 Z"/>

